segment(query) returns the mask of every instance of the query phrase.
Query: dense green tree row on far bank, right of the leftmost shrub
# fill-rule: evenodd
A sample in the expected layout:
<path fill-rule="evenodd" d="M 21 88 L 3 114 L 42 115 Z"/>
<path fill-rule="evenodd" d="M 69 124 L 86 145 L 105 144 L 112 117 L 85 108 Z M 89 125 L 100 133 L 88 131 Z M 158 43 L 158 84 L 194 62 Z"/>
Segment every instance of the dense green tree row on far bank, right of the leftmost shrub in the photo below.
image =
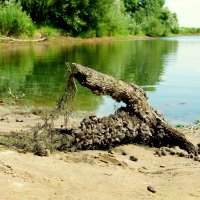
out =
<path fill-rule="evenodd" d="M 5 2 L 4 0 L 0 0 Z M 17 0 L 37 25 L 64 29 L 69 35 L 165 36 L 177 33 L 178 20 L 165 0 Z"/>

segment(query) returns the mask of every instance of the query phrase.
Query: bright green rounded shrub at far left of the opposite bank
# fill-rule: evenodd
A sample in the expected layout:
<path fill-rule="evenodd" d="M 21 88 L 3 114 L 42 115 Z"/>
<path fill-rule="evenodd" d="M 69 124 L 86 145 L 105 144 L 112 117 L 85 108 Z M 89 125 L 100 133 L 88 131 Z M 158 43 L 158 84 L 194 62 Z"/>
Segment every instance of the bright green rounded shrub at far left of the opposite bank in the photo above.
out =
<path fill-rule="evenodd" d="M 31 18 L 22 11 L 19 3 L 6 1 L 0 5 L 0 33 L 5 36 L 26 34 L 33 36 L 34 24 Z"/>

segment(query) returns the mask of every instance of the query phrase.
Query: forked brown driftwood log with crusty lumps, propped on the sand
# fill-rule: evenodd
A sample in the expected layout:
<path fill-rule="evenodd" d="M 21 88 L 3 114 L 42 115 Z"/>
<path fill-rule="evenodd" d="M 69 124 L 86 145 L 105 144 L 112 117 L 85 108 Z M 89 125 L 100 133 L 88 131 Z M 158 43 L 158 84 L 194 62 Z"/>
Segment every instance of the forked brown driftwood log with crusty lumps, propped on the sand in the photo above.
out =
<path fill-rule="evenodd" d="M 116 145 L 139 143 L 154 147 L 179 146 L 188 153 L 196 148 L 184 134 L 170 126 L 147 101 L 145 91 L 93 69 L 73 63 L 73 77 L 96 95 L 109 95 L 126 107 L 108 117 L 90 116 L 80 127 L 68 130 L 74 149 L 109 149 Z"/>

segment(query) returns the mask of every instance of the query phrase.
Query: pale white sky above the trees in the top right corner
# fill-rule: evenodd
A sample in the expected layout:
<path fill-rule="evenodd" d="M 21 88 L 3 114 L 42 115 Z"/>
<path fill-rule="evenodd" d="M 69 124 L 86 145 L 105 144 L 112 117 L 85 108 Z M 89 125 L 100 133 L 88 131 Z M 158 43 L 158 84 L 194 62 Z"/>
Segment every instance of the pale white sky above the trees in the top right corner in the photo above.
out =
<path fill-rule="evenodd" d="M 166 0 L 165 6 L 177 14 L 180 26 L 200 28 L 200 0 Z"/>

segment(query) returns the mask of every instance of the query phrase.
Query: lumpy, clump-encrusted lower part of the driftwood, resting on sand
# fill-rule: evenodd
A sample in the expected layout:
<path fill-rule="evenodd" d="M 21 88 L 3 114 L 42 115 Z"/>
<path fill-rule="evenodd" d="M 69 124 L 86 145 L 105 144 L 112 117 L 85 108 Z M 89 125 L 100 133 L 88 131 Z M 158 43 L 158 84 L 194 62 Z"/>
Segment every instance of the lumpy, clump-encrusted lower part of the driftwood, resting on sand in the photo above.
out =
<path fill-rule="evenodd" d="M 79 127 L 62 130 L 62 133 L 70 141 L 63 149 L 72 151 L 109 150 L 118 145 L 131 143 L 151 147 L 173 147 L 179 144 L 176 138 L 173 143 L 171 142 L 171 132 L 163 131 L 163 127 L 151 127 L 127 108 L 120 108 L 115 114 L 107 117 L 90 116 L 83 119 Z"/>

